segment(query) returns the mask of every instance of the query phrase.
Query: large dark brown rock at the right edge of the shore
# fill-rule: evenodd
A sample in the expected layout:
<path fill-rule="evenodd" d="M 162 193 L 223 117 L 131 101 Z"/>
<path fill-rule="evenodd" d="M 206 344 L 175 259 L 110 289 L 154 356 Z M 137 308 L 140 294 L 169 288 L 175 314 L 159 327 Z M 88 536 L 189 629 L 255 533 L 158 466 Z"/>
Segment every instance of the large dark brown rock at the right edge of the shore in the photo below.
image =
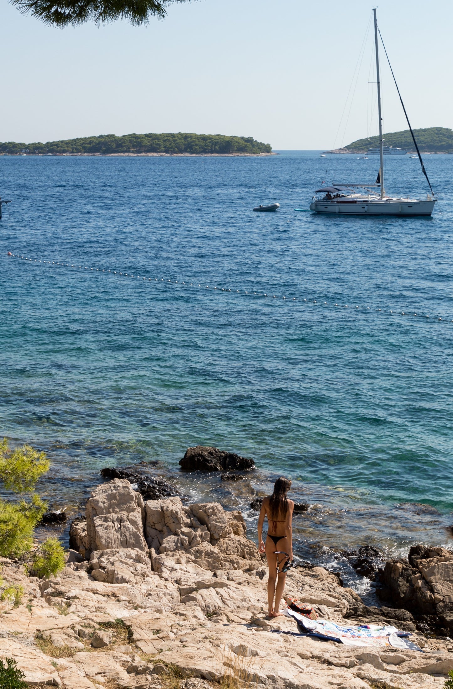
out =
<path fill-rule="evenodd" d="M 385 563 L 380 580 L 379 597 L 410 610 L 421 631 L 453 634 L 453 551 L 412 546 L 407 560 Z"/>

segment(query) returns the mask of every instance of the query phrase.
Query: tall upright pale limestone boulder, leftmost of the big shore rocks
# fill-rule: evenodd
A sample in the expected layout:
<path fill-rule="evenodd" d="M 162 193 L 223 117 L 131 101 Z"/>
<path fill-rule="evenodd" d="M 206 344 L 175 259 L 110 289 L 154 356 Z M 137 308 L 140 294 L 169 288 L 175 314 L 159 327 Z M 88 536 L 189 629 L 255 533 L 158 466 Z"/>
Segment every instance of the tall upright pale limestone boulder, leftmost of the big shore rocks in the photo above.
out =
<path fill-rule="evenodd" d="M 113 548 L 145 551 L 144 504 L 128 480 L 114 479 L 97 486 L 86 504 L 90 553 Z"/>

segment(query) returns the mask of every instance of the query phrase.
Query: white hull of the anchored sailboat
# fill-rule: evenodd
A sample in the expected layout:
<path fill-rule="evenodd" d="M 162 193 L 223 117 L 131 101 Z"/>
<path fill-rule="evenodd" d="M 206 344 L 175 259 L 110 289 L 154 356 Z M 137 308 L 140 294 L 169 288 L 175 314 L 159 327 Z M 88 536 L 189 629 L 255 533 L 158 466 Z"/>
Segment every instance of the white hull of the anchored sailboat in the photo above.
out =
<path fill-rule="evenodd" d="M 314 200 L 310 210 L 316 213 L 334 213 L 359 216 L 430 216 L 435 200 Z"/>

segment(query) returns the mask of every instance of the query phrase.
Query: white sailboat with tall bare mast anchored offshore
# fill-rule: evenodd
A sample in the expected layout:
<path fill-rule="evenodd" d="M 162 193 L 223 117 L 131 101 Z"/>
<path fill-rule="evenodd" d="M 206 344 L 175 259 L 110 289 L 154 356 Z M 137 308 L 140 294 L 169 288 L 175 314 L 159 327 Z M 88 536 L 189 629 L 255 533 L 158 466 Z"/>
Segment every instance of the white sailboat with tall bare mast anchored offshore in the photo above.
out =
<path fill-rule="evenodd" d="M 381 80 L 379 77 L 379 44 L 378 44 L 378 25 L 376 19 L 376 8 L 374 13 L 374 43 L 376 48 L 376 74 L 377 74 L 377 100 L 378 100 L 378 116 L 379 116 L 379 155 L 381 157 L 381 165 L 379 173 L 374 184 L 336 184 L 333 183 L 330 187 L 321 187 L 314 192 L 310 210 L 316 213 L 340 213 L 342 215 L 373 215 L 373 216 L 430 216 L 436 203 L 436 195 L 432 190 L 430 180 L 428 179 L 425 165 L 419 151 L 419 147 L 415 141 L 414 132 L 410 126 L 409 118 L 404 107 L 403 99 L 399 92 L 398 84 L 388 59 L 385 45 L 382 45 L 385 51 L 385 56 L 390 66 L 390 71 L 398 91 L 401 105 L 403 106 L 404 114 L 409 125 L 412 140 L 414 141 L 416 152 L 419 156 L 421 169 L 430 186 L 430 192 L 426 198 L 411 198 L 410 196 L 404 198 L 396 198 L 395 196 L 387 196 L 384 188 L 384 147 L 382 136 L 382 116 L 381 116 Z M 381 35 L 381 32 L 379 32 Z"/>

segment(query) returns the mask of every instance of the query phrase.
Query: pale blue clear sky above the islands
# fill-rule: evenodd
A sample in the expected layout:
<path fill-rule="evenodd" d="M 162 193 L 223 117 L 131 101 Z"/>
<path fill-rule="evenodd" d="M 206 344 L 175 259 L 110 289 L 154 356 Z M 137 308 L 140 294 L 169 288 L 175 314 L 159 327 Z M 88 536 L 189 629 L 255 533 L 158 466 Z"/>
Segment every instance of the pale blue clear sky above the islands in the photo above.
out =
<path fill-rule="evenodd" d="M 371 16 L 363 0 L 198 0 L 146 27 L 57 29 L 1 0 L 0 141 L 196 132 L 274 150 L 346 145 L 377 132 Z M 412 127 L 452 127 L 453 3 L 380 0 L 378 22 Z M 385 130 L 407 129 L 385 65 L 381 80 Z"/>

